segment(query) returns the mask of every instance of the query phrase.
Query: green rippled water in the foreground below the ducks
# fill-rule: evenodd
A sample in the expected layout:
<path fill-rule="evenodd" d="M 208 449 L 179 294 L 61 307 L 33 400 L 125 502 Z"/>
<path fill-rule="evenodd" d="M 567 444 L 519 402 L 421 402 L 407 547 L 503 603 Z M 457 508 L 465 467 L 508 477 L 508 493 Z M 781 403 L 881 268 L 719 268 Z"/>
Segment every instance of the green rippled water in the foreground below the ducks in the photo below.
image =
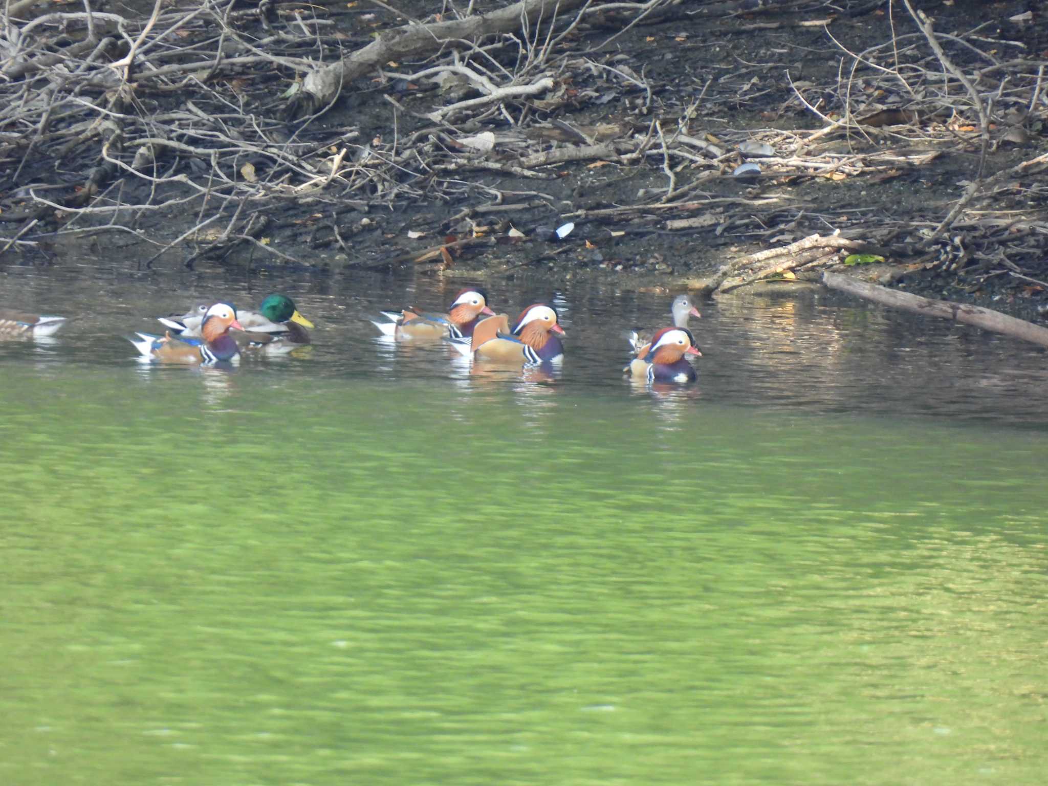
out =
<path fill-rule="evenodd" d="M 2 373 L 0 783 L 1044 783 L 1043 430 Z"/>

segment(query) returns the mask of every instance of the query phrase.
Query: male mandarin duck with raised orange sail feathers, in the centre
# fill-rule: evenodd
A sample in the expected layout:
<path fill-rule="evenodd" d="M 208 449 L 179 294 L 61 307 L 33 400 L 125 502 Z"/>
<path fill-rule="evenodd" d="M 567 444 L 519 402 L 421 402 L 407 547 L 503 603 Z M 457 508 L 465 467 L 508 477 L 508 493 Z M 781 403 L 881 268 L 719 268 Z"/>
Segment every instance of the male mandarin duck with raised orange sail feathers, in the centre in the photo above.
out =
<path fill-rule="evenodd" d="M 545 303 L 528 306 L 510 331 L 505 314 L 481 321 L 472 339 L 452 339 L 462 354 L 477 358 L 524 363 L 527 366 L 560 363 L 564 345 L 553 333 L 564 334 L 556 324 L 556 309 Z"/>

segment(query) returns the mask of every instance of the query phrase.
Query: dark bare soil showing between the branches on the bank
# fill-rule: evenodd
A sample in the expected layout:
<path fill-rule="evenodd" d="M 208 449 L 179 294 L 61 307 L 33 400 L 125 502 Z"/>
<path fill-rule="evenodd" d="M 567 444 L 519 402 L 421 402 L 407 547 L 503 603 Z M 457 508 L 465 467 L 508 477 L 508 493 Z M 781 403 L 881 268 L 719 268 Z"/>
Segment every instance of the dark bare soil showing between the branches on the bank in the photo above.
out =
<path fill-rule="evenodd" d="M 503 2 L 478 2 L 479 10 L 495 8 Z M 151 7 L 152 3 L 146 4 Z M 406 15 L 423 19 L 432 14 L 434 4 L 408 0 L 395 5 Z M 529 109 L 528 124 L 509 125 L 498 113 L 477 124 L 471 131 L 490 130 L 496 133 L 524 134 L 533 146 L 532 152 L 559 144 L 552 122 L 565 122 L 582 129 L 612 126 L 619 132 L 643 134 L 652 119 L 658 119 L 663 133 L 672 134 L 678 121 L 692 114 L 691 134 L 701 129 L 704 141 L 733 150 L 737 141 L 783 138 L 784 133 L 811 131 L 826 123 L 798 99 L 795 86 L 805 99 L 823 114 L 839 118 L 849 96 L 842 85 L 849 78 L 852 60 L 842 47 L 860 52 L 892 39 L 896 35 L 916 34 L 918 29 L 905 9 L 895 3 L 893 17 L 886 13 L 888 3 L 844 2 L 834 7 L 818 2 L 802 6 L 792 13 L 760 15 L 706 16 L 700 13 L 705 4 L 684 3 L 675 18 L 654 24 L 637 24 L 621 32 L 618 27 L 603 26 L 599 21 L 584 24 L 562 43 L 566 54 L 559 79 L 566 85 L 570 100 L 545 112 Z M 1003 0 L 1002 2 L 938 2 L 924 0 L 915 5 L 934 18 L 935 28 L 956 36 L 974 35 L 985 40 L 984 48 L 998 59 L 1048 59 L 1048 22 L 1035 0 Z M 366 43 L 375 30 L 406 23 L 402 18 L 368 3 L 356 6 L 345 3 L 341 13 L 332 15 L 335 26 L 346 37 L 347 49 Z M 333 9 L 333 6 L 332 6 Z M 1010 22 L 1009 18 L 1032 12 L 1031 22 Z M 147 10 L 148 13 L 148 10 Z M 806 22 L 829 19 L 828 26 L 806 25 Z M 621 32 L 610 44 L 603 42 Z M 839 42 L 839 46 L 831 40 Z M 917 42 L 926 54 L 926 44 Z M 596 51 L 590 49 L 599 47 Z M 985 66 L 964 46 L 947 46 L 949 56 L 964 70 Z M 577 56 L 577 57 L 573 57 Z M 500 56 L 502 57 L 502 56 Z M 599 64 L 584 67 L 583 58 Z M 512 67 L 511 61 L 504 65 Z M 651 97 L 639 85 L 624 80 L 603 68 L 610 66 L 636 75 L 651 86 Z M 413 72 L 425 63 L 390 65 L 392 71 Z M 787 79 L 787 74 L 789 79 Z M 793 82 L 793 86 L 790 84 Z M 244 112 L 272 115 L 278 96 L 289 81 L 277 71 L 267 71 L 252 85 L 244 103 Z M 264 88 L 264 90 L 263 90 Z M 861 92 L 861 88 L 856 88 Z M 263 92 L 259 92 L 263 90 Z M 851 95 L 851 105 L 887 106 L 897 104 L 892 94 L 878 96 L 875 91 Z M 396 111 L 384 95 L 394 97 L 406 110 Z M 432 122 L 409 112 L 425 113 L 447 103 L 461 100 L 447 97 L 431 84 L 406 84 L 375 75 L 362 80 L 343 91 L 337 103 L 304 130 L 300 140 L 312 141 L 318 149 L 337 146 L 351 131 L 358 132 L 353 155 L 367 155 L 367 150 L 390 150 L 394 140 L 409 138 L 414 132 L 432 126 Z M 143 111 L 162 113 L 184 106 L 184 96 L 162 92 L 144 95 Z M 508 117 L 521 116 L 520 105 L 507 105 Z M 1002 141 L 1000 135 L 986 158 L 988 174 L 1028 160 L 1048 150 L 1048 124 L 1045 107 L 1026 118 L 1026 140 Z M 394 125 L 395 122 L 395 125 Z M 954 123 L 955 126 L 976 125 L 976 117 L 951 116 L 947 112 L 924 117 L 917 123 L 925 127 Z M 937 225 L 959 199 L 965 184 L 976 176 L 980 161 L 979 134 L 957 131 L 919 140 L 919 133 L 891 131 L 864 139 L 857 135 L 839 134 L 828 137 L 824 151 L 864 153 L 895 146 L 909 153 L 922 150 L 939 153 L 933 161 L 919 167 L 902 168 L 886 175 L 883 172 L 858 174 L 843 179 L 798 176 L 796 172 L 779 173 L 765 168 L 756 182 L 733 177 L 733 170 L 742 162 L 739 156 L 726 156 L 717 161 L 720 175 L 701 181 L 689 210 L 637 210 L 624 213 L 614 220 L 578 216 L 616 206 L 651 202 L 651 195 L 664 192 L 669 178 L 662 156 L 648 156 L 639 162 L 581 160 L 547 168 L 555 172 L 553 179 L 517 177 L 504 172 L 464 171 L 457 175 L 462 181 L 458 195 L 449 198 L 443 192 L 437 198 L 394 198 L 384 202 L 378 195 L 370 200 L 359 193 L 340 200 L 337 191 L 329 190 L 322 199 L 287 200 L 279 210 L 264 208 L 267 222 L 255 236 L 270 247 L 301 261 L 305 267 L 341 269 L 354 266 L 379 267 L 386 261 L 399 260 L 403 255 L 440 243 L 445 236 L 471 237 L 477 234 L 498 238 L 495 245 L 482 245 L 462 250 L 447 264 L 422 263 L 424 269 L 445 276 L 548 276 L 552 280 L 565 277 L 606 277 L 630 288 L 659 287 L 674 290 L 694 286 L 704 276 L 724 262 L 772 244 L 785 244 L 810 234 L 842 231 L 848 237 L 888 238 L 892 255 L 889 263 L 912 264 L 905 275 L 895 272 L 895 284 L 911 291 L 947 300 L 974 302 L 1009 311 L 1025 318 L 1036 318 L 1038 306 L 1048 304 L 1048 286 L 1017 279 L 1009 271 L 1041 281 L 1048 280 L 1048 260 L 1043 245 L 1029 243 L 1008 246 L 1005 252 L 971 232 L 951 232 L 944 248 L 965 246 L 962 264 L 947 269 L 942 255 L 929 260 L 919 248 L 920 233 Z M 294 129 L 293 123 L 288 129 Z M 574 140 L 577 141 L 577 140 Z M 133 152 L 133 151 L 131 151 Z M 498 148 L 496 149 L 496 157 Z M 697 156 L 698 157 L 698 156 Z M 758 159 L 759 160 L 759 159 Z M 58 171 L 65 184 L 82 181 L 86 170 L 93 166 L 90 157 L 59 162 Z M 708 171 L 711 160 L 701 162 L 672 160 L 678 185 Z M 256 161 L 260 175 L 264 161 Z M 449 177 L 456 177 L 449 175 Z M 19 182 L 0 205 L 5 212 L 26 208 L 26 184 L 54 182 L 54 173 L 24 169 Z M 1029 187 L 1030 183 L 1025 185 Z M 128 179 L 122 198 L 129 202 L 143 201 L 150 184 Z M 425 189 L 423 188 L 424 192 Z M 740 200 L 773 197 L 777 201 L 759 209 L 749 209 Z M 726 201 L 718 201 L 726 200 Z M 492 212 L 499 203 L 527 203 L 517 210 Z M 253 210 L 246 205 L 247 212 Z M 973 215 L 986 211 L 1022 210 L 1025 215 L 1045 221 L 1048 217 L 1048 189 L 1033 183 L 1032 188 L 1004 191 L 987 201 L 970 205 Z M 574 217 L 572 215 L 574 214 Z M 232 215 L 232 214 L 231 214 Z M 143 213 L 136 226 L 154 240 L 170 242 L 185 233 L 198 220 L 196 210 Z M 703 217 L 707 220 L 703 221 Z M 685 230 L 668 230 L 665 220 L 698 218 L 696 225 Z M 59 223 L 53 217 L 51 228 Z M 109 220 L 109 217 L 107 217 Z M 551 230 L 568 220 L 574 230 L 566 239 L 545 240 Z M 337 227 L 340 239 L 332 226 Z M 892 227 L 886 234 L 885 227 Z M 510 239 L 511 228 L 525 237 Z M 10 225 L 0 225 L 0 234 L 9 237 Z M 881 234 L 877 235 L 877 231 Z M 419 234 L 409 237 L 409 233 Z M 1033 233 L 1035 236 L 1036 233 Z M 127 236 L 130 237 L 130 236 Z M 956 242 L 951 238 L 955 238 Z M 21 252 L 20 263 L 53 260 L 61 264 L 71 255 L 83 252 L 83 238 L 71 241 L 48 240 L 40 254 Z M 108 250 L 127 242 L 112 235 L 95 239 L 97 250 Z M 2 246 L 2 243 L 0 243 Z M 181 243 L 152 261 L 153 266 L 191 264 L 196 268 L 209 265 L 245 264 L 253 266 L 280 265 L 293 268 L 287 260 L 260 254 L 258 248 L 240 245 L 233 253 L 199 254 L 200 245 Z M 74 250 L 75 249 L 75 250 Z M 133 243 L 122 249 L 129 264 L 141 264 L 155 254 L 155 246 Z M 978 259 L 967 252 L 985 252 Z M 946 250 L 949 250 L 946 248 Z M 945 253 L 945 252 L 944 252 Z M 955 247 L 951 253 L 957 255 Z M 989 259 L 1003 254 L 1001 259 Z M 15 261 L 13 249 L 0 259 L 0 264 Z M 396 264 L 412 264 L 397 261 Z M 1000 269 L 999 272 L 994 272 Z M 782 287 L 791 284 L 783 283 Z"/>

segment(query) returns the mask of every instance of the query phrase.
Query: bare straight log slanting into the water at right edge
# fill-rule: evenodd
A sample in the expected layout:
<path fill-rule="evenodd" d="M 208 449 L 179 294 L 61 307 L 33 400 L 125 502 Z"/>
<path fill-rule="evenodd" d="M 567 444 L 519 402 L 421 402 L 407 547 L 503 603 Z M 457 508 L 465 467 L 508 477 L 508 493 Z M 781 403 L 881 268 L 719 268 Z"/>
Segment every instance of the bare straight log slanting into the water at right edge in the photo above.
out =
<path fill-rule="evenodd" d="M 913 311 L 925 316 L 954 320 L 965 325 L 975 325 L 984 330 L 992 330 L 996 333 L 1004 333 L 1016 339 L 1040 344 L 1042 347 L 1048 347 L 1048 328 L 1043 328 L 1025 320 L 1017 320 L 1014 316 L 1008 316 L 989 308 L 969 306 L 965 303 L 953 303 L 946 300 L 922 298 L 919 294 L 900 292 L 895 289 L 878 286 L 877 284 L 869 284 L 838 272 L 824 272 L 823 283 L 830 289 L 848 292 L 864 300 L 872 300 L 874 303 L 880 303 L 892 308 L 901 308 L 904 311 Z"/>

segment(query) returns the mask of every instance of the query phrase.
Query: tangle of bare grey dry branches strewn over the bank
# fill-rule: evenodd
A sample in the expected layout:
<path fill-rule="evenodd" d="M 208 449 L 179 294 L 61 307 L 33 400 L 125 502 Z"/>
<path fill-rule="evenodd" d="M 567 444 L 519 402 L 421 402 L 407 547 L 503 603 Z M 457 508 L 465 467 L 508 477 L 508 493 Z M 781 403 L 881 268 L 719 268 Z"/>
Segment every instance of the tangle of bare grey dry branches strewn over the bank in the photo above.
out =
<path fill-rule="evenodd" d="M 348 254 L 354 235 L 419 204 L 460 206 L 457 219 L 558 214 L 612 236 L 767 243 L 830 228 L 980 275 L 1014 264 L 1017 248 L 1044 250 L 1048 194 L 1031 176 L 1046 160 L 1016 155 L 1048 121 L 1044 64 L 982 28 L 942 34 L 914 12 L 891 19 L 889 39 L 853 47 L 837 17 L 813 16 L 830 7 L 817 0 L 519 0 L 418 19 L 371 1 L 157 0 L 148 19 L 90 0 L 36 17 L 10 3 L 0 221 L 17 226 L 0 252 L 113 232 L 157 253 L 184 245 L 190 263 L 242 245 L 292 262 L 265 242 L 274 227 Z M 851 5 L 871 7 L 833 7 Z M 735 16 L 776 6 L 807 17 Z M 727 21 L 715 30 L 717 18 Z M 645 48 L 705 57 L 712 30 L 738 41 L 791 24 L 832 47 L 835 80 L 728 47 L 674 84 L 655 75 L 674 54 Z M 742 109 L 769 123 L 733 124 Z M 915 201 L 902 216 L 861 203 L 867 187 L 913 182 L 959 156 L 976 166 L 952 204 Z M 627 178 L 640 180 L 632 199 L 583 196 Z M 854 183 L 847 220 L 800 188 L 825 182 Z M 161 223 L 171 215 L 194 218 Z"/>

